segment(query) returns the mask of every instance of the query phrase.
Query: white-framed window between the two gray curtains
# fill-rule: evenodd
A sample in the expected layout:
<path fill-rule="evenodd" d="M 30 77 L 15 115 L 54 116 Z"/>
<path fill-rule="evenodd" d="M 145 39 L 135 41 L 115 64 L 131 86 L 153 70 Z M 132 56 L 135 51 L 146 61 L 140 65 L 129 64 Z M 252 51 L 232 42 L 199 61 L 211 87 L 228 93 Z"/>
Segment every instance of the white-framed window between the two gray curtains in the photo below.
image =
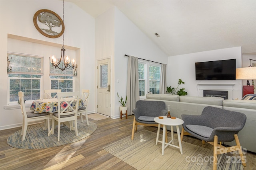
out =
<path fill-rule="evenodd" d="M 151 63 L 138 63 L 139 93 L 145 96 L 148 92 L 159 94 L 161 66 Z"/>

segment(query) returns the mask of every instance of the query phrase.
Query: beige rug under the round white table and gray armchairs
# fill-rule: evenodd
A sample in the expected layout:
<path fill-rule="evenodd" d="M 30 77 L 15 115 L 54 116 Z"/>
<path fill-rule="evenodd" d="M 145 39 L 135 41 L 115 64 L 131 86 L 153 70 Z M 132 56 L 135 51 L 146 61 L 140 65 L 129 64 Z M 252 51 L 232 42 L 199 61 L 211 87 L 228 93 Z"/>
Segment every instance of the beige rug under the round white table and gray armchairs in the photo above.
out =
<path fill-rule="evenodd" d="M 162 141 L 162 135 L 159 139 Z M 129 136 L 103 149 L 137 170 L 213 169 L 213 150 L 182 142 L 183 154 L 180 149 L 168 146 L 162 155 L 162 143 L 155 144 L 156 133 L 142 130 L 134 134 L 134 140 Z M 178 140 L 174 140 L 174 145 L 178 145 Z M 218 155 L 218 170 L 242 170 L 242 164 L 236 162 L 238 159 L 236 153 Z"/>

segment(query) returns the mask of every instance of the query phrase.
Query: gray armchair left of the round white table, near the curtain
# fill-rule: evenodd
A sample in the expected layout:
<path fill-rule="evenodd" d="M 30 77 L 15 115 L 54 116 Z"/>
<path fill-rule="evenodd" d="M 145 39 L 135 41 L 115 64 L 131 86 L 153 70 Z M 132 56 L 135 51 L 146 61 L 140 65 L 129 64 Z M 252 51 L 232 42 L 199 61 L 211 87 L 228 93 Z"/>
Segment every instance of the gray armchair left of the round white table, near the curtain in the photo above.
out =
<path fill-rule="evenodd" d="M 163 101 L 144 101 L 138 100 L 135 105 L 134 120 L 132 125 L 132 140 L 134 137 L 134 131 L 137 131 L 138 125 L 155 126 L 158 127 L 158 123 L 154 121 L 155 117 L 165 116 L 167 110 L 165 110 L 165 103 Z"/>

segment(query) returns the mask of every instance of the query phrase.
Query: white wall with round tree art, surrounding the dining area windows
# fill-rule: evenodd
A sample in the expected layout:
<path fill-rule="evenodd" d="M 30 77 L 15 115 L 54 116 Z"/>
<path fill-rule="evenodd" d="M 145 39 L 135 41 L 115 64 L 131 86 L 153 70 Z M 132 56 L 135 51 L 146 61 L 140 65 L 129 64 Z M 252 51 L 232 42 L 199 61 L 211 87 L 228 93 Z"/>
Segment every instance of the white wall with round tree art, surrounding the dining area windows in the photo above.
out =
<path fill-rule="evenodd" d="M 48 42 L 59 44 L 59 52 L 61 54 L 62 36 L 52 39 L 45 37 L 37 31 L 33 23 L 34 14 L 41 9 L 48 9 L 56 12 L 62 18 L 63 2 L 59 0 L 1 0 L 0 1 L 0 57 L 1 60 L 7 60 L 7 51 L 15 50 L 17 53 L 40 53 L 40 55 L 49 58 L 49 51 L 55 51 L 55 49 L 40 49 L 40 45 L 24 43 L 24 48 L 8 47 L 10 44 L 15 44 L 14 41 L 8 41 L 8 34 L 25 37 L 30 41 L 36 39 L 39 43 Z M 81 89 L 89 89 L 91 91 L 90 103 L 88 106 L 88 112 L 95 111 L 94 103 L 94 80 L 95 76 L 90 74 L 90 70 L 95 70 L 95 38 L 94 38 L 94 18 L 88 15 L 86 12 L 78 8 L 70 2 L 65 2 L 65 16 L 64 16 L 64 45 L 70 47 L 76 47 L 76 61 L 78 62 L 78 76 L 75 78 L 76 91 Z M 9 39 L 10 40 L 10 39 Z M 47 51 L 48 50 L 48 51 Z M 45 53 L 44 53 L 45 51 Z M 47 51 L 47 52 L 46 52 Z M 56 50 L 57 51 L 57 50 Z M 68 50 L 66 51 L 66 54 Z M 56 54 L 56 55 L 58 55 Z M 46 61 L 44 59 L 44 61 Z M 20 109 L 5 110 L 4 106 L 7 105 L 7 70 L 6 65 L 0 67 L 0 129 L 6 129 L 10 127 L 21 126 L 22 115 Z M 48 65 L 45 69 L 47 69 Z M 47 76 L 47 75 L 44 75 Z M 46 88 L 49 86 L 46 85 Z M 80 89 L 77 89 L 77 88 Z"/>

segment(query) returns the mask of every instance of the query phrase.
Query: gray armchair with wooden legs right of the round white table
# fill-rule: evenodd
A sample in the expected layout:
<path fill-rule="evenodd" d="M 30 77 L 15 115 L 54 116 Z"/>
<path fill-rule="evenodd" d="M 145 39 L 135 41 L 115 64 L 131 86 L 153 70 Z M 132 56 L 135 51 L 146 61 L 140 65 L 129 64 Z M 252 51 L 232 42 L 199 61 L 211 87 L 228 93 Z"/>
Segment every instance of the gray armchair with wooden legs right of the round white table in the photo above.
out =
<path fill-rule="evenodd" d="M 181 118 L 184 121 L 181 141 L 184 135 L 191 135 L 201 139 L 203 144 L 206 141 L 214 145 L 214 170 L 217 169 L 217 155 L 222 154 L 223 150 L 226 150 L 226 152 L 238 150 L 242 158 L 242 164 L 246 166 L 237 136 L 246 122 L 244 113 L 208 106 L 203 109 L 202 115 L 181 115 Z M 234 140 L 236 141 L 236 146 L 224 147 L 221 145 L 222 142 Z"/>

